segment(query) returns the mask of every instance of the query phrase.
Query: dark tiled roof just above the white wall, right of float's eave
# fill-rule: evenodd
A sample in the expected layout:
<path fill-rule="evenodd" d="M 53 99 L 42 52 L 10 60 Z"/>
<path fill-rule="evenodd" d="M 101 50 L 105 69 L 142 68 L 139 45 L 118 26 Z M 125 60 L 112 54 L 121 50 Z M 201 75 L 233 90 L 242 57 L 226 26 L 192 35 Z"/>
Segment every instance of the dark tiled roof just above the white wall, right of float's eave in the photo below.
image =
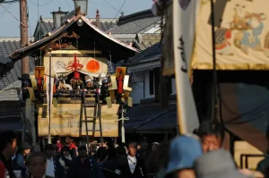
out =
<path fill-rule="evenodd" d="M 160 42 L 154 44 L 152 47 L 144 49 L 141 53 L 137 53 L 133 58 L 128 60 L 127 66 L 144 64 L 159 60 L 161 57 Z"/>

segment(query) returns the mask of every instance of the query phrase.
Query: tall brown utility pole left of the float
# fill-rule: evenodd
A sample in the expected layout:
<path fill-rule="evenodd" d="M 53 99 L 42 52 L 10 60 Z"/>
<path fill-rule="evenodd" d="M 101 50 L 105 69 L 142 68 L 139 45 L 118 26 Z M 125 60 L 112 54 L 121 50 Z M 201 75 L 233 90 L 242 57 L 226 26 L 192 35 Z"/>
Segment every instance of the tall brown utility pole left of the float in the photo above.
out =
<path fill-rule="evenodd" d="M 20 21 L 21 21 L 21 45 L 25 47 L 28 44 L 28 13 L 27 0 L 20 0 Z M 29 75 L 29 57 L 22 58 L 22 88 L 23 81 L 30 79 Z M 23 92 L 22 92 L 23 95 Z M 22 142 L 26 140 L 26 118 L 25 118 L 25 97 L 22 96 Z"/>

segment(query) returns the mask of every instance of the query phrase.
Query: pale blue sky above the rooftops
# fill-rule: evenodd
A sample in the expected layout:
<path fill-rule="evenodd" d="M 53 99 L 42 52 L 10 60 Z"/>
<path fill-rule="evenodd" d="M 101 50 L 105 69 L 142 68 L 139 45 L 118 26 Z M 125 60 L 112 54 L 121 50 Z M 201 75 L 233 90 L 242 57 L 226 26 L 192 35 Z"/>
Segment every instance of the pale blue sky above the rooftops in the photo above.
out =
<path fill-rule="evenodd" d="M 125 15 L 136 13 L 152 6 L 152 0 L 88 0 L 88 17 L 95 17 L 96 10 L 100 18 L 115 18 L 120 12 Z M 62 11 L 74 10 L 73 0 L 27 0 L 29 8 L 29 36 L 32 37 L 39 20 L 52 18 L 52 12 L 61 7 Z M 3 6 L 4 7 L 3 7 Z M 122 9 L 120 10 L 122 6 Z M 20 37 L 20 4 L 0 4 L 0 37 Z"/>

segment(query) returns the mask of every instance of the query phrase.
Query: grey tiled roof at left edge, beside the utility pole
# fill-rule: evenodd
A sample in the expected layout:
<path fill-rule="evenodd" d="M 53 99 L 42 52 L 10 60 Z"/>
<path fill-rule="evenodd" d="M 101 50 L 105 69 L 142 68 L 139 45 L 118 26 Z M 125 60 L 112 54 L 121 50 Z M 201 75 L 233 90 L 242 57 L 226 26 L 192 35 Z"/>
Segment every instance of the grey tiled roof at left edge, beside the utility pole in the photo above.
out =
<path fill-rule="evenodd" d="M 8 57 L 19 48 L 21 48 L 20 38 L 0 38 L 0 55 Z M 9 61 L 6 60 L 6 62 Z M 32 58 L 30 58 L 29 64 L 31 71 L 34 69 L 34 60 Z M 21 76 L 22 68 L 21 61 L 19 60 L 14 63 L 13 69 L 10 72 L 7 72 L 4 76 L 0 76 L 0 101 L 19 100 L 17 90 L 14 90 L 14 88 L 21 88 L 22 81 L 18 81 L 18 78 Z"/>

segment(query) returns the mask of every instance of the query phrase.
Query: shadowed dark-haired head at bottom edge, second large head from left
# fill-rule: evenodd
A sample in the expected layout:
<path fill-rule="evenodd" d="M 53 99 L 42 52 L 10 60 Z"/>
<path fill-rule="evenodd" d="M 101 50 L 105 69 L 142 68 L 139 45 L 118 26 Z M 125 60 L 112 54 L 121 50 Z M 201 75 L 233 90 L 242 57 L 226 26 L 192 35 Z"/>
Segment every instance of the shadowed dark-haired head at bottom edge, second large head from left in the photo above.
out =
<path fill-rule="evenodd" d="M 27 158 L 26 165 L 33 177 L 42 178 L 46 174 L 47 158 L 41 152 L 34 152 Z"/>

